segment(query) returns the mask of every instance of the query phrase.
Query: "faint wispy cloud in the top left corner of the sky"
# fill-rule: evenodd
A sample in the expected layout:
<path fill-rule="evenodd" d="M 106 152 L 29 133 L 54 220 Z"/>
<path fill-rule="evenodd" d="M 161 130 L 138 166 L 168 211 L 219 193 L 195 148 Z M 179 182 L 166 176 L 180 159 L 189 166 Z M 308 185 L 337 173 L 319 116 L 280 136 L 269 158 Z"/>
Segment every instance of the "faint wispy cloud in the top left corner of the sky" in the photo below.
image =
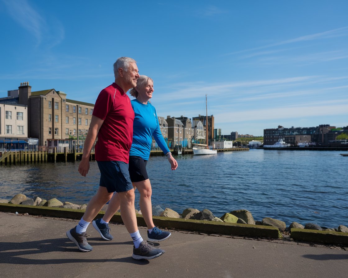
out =
<path fill-rule="evenodd" d="M 11 18 L 35 37 L 37 46 L 42 43 L 43 38 L 50 41 L 49 48 L 64 39 L 65 32 L 60 21 L 55 20 L 54 25 L 49 26 L 46 19 L 27 0 L 1 1 L 5 4 Z"/>

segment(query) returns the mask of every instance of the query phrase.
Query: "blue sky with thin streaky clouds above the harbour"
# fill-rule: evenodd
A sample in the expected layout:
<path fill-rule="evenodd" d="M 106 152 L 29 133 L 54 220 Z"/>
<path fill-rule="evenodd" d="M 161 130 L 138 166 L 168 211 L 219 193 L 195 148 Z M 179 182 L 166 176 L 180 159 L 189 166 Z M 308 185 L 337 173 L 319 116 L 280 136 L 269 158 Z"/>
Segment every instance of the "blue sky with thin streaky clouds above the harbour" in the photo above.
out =
<path fill-rule="evenodd" d="M 348 125 L 348 1 L 0 0 L 0 97 L 29 81 L 94 103 L 121 56 L 159 116 L 223 134 Z M 132 98 L 132 97 L 131 97 Z"/>

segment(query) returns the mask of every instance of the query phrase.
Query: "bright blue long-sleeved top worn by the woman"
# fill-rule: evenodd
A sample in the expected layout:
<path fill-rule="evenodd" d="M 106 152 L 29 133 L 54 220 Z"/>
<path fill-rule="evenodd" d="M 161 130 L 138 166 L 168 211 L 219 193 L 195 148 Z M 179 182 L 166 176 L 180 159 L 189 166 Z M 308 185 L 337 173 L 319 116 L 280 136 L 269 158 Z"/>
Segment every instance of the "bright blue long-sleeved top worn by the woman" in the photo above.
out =
<path fill-rule="evenodd" d="M 129 155 L 140 156 L 143 160 L 149 160 L 152 137 L 158 146 L 166 154 L 169 152 L 166 141 L 159 128 L 159 122 L 155 107 L 151 103 L 142 104 L 138 100 L 130 101 L 134 110 L 133 142 Z"/>

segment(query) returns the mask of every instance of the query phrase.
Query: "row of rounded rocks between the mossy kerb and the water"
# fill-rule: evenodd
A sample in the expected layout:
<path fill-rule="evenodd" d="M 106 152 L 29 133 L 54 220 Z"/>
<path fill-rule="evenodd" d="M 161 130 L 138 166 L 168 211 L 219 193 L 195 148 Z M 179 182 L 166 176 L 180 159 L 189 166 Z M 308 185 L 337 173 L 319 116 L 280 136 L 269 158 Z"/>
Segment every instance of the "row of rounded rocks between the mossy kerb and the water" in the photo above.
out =
<path fill-rule="evenodd" d="M 24 194 L 17 194 L 10 201 L 6 199 L 0 199 L 0 203 L 10 203 L 10 204 L 21 204 L 21 205 L 31 205 L 31 206 L 47 206 L 47 207 L 63 207 L 72 208 L 77 210 L 85 210 L 87 204 L 78 205 L 70 202 L 62 203 L 56 198 L 49 200 L 41 199 L 40 197 L 27 198 Z M 141 211 L 136 211 L 141 214 Z M 240 224 L 251 224 L 251 225 L 263 225 L 272 226 L 277 228 L 280 232 L 286 233 L 290 232 L 292 228 L 297 229 L 310 229 L 310 230 L 329 230 L 348 233 L 348 228 L 346 226 L 340 225 L 337 228 L 326 228 L 321 227 L 315 223 L 306 223 L 304 226 L 297 222 L 292 222 L 289 227 L 286 227 L 284 221 L 273 219 L 273 218 L 263 218 L 261 221 L 255 221 L 253 215 L 248 210 L 234 210 L 225 213 L 220 218 L 216 217 L 211 211 L 204 209 L 199 211 L 196 208 L 186 208 L 181 214 L 170 208 L 161 208 L 160 206 L 152 207 L 152 215 L 154 216 L 164 216 L 169 218 L 183 218 L 183 219 L 195 219 L 195 220 L 206 220 L 206 221 L 217 221 L 217 222 L 227 222 L 227 223 L 240 223 Z"/>

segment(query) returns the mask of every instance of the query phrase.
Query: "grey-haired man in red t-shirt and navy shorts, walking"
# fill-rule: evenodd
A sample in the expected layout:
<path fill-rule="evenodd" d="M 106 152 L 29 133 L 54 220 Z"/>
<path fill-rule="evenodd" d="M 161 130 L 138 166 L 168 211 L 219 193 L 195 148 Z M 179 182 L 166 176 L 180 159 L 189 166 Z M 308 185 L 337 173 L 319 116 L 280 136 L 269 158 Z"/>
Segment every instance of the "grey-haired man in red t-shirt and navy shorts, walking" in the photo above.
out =
<path fill-rule="evenodd" d="M 134 210 L 135 194 L 128 172 L 134 112 L 127 91 L 136 86 L 139 71 L 135 60 L 129 57 L 118 58 L 113 69 L 115 82 L 103 89 L 96 100 L 78 169 L 86 177 L 90 152 L 98 137 L 95 159 L 101 173 L 99 188 L 79 224 L 66 235 L 80 251 L 92 251 L 93 247 L 87 243 L 86 229 L 116 191 L 121 201 L 122 221 L 134 242 L 132 257 L 154 259 L 164 250 L 149 245 L 139 234 Z"/>

